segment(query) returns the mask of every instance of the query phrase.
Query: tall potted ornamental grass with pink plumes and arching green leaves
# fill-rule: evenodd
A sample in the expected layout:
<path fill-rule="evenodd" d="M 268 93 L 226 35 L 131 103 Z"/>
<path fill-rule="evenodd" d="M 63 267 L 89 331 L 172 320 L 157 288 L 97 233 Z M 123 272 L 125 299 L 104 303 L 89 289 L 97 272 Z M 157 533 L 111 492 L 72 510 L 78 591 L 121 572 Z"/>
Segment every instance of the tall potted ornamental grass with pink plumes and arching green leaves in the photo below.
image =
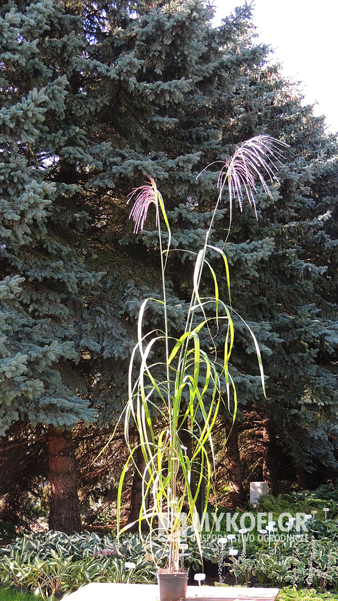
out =
<path fill-rule="evenodd" d="M 230 224 L 233 200 L 238 199 L 241 209 L 244 197 L 254 206 L 253 192 L 256 191 L 256 180 L 259 180 L 266 194 L 271 197 L 263 176 L 268 175 L 271 182 L 278 181 L 275 177 L 275 162 L 279 162 L 280 147 L 283 145 L 270 136 L 257 136 L 236 147 L 232 158 L 223 163 L 218 177 L 218 198 L 209 229 L 202 248 L 195 254 L 192 292 L 185 329 L 177 338 L 171 337 L 168 327 L 165 269 L 170 257 L 171 231 L 164 201 L 152 177 L 149 177 L 149 183 L 135 189 L 129 199 L 135 201 L 131 210 L 131 217 L 135 221 L 135 233 L 143 228 L 149 207 L 155 207 L 162 267 L 162 298 L 147 298 L 143 301 L 138 317 L 138 341 L 131 356 L 128 376 L 129 398 L 124 409 L 124 432 L 129 448 L 129 459 L 124 465 L 118 487 L 118 530 L 124 478 L 131 462 L 134 462 L 137 468 L 134 461 L 135 448 L 132 448 L 130 441 L 130 429 L 136 427 L 146 465 L 141 474 L 143 503 L 138 520 L 140 534 L 142 536 L 141 524 L 146 522 L 150 532 L 148 541 L 151 548 L 152 536 L 158 528 L 161 528 L 162 540 L 168 552 L 167 566 L 158 572 L 161 601 L 185 599 L 187 572 L 180 564 L 179 551 L 182 542 L 183 509 L 186 508 L 186 519 L 192 520 L 198 549 L 202 554 L 200 534 L 203 520 L 202 523 L 197 523 L 194 516 L 200 490 L 205 488 L 204 511 L 206 511 L 212 485 L 214 468 L 212 429 L 221 403 L 229 407 L 233 420 L 236 416 L 236 388 L 229 372 L 235 337 L 229 266 L 223 249 L 209 244 L 210 232 L 222 200 L 224 186 L 227 185 L 229 189 Z M 166 240 L 165 248 L 164 240 Z M 207 260 L 210 251 L 214 255 L 217 253 L 223 260 L 229 296 L 227 302 L 219 297 L 217 275 Z M 203 269 L 210 271 L 214 281 L 212 297 L 201 295 Z M 156 303 L 162 308 L 163 328 L 152 329 L 145 333 L 144 314 L 149 303 Z M 236 317 L 239 317 L 237 313 Z M 226 337 L 224 356 L 220 359 L 216 352 L 215 336 L 223 324 L 226 326 Z M 259 346 L 253 332 L 247 324 L 245 325 L 254 341 L 264 391 Z M 207 345 L 209 350 L 203 347 L 201 341 L 204 331 L 207 331 L 209 336 Z M 157 356 L 161 356 L 160 349 L 162 349 L 164 357 L 162 360 L 153 362 L 154 349 Z M 189 449 L 183 444 L 187 436 L 190 441 Z M 121 531 L 129 526 L 125 526 Z"/>

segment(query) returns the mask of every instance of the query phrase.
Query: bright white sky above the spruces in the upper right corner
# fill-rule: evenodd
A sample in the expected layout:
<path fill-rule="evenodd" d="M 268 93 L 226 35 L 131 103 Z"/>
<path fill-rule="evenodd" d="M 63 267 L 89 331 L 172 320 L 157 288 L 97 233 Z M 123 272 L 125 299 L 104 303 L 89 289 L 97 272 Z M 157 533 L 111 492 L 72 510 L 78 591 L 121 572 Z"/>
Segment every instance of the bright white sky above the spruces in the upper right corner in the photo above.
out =
<path fill-rule="evenodd" d="M 214 0 L 217 22 L 244 0 Z M 301 82 L 306 103 L 318 103 L 338 131 L 338 0 L 254 0 L 257 41 L 270 44 L 283 75 Z"/>

